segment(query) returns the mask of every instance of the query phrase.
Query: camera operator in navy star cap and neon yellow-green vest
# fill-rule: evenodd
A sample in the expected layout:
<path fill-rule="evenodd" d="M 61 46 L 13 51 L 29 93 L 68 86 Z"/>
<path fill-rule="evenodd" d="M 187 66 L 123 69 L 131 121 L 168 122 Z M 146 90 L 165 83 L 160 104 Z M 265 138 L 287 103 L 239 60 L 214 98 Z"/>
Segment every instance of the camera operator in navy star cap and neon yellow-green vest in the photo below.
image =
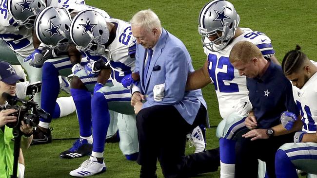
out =
<path fill-rule="evenodd" d="M 6 126 L 7 123 L 17 121 L 16 116 L 10 116 L 12 113 L 18 112 L 16 109 L 5 109 L 7 96 L 16 96 L 17 81 L 23 82 L 24 79 L 16 74 L 13 67 L 7 62 L 0 62 L 0 178 L 9 178 L 13 169 L 13 150 L 14 150 L 14 136 L 13 129 Z M 3 94 L 5 93 L 5 94 Z M 6 94 L 7 93 L 7 94 Z M 24 121 L 20 126 L 23 136 L 21 138 L 21 148 L 26 149 L 32 141 L 33 128 L 30 125 L 25 125 Z M 19 178 L 24 177 L 24 159 L 22 150 L 20 148 L 19 156 Z"/>

